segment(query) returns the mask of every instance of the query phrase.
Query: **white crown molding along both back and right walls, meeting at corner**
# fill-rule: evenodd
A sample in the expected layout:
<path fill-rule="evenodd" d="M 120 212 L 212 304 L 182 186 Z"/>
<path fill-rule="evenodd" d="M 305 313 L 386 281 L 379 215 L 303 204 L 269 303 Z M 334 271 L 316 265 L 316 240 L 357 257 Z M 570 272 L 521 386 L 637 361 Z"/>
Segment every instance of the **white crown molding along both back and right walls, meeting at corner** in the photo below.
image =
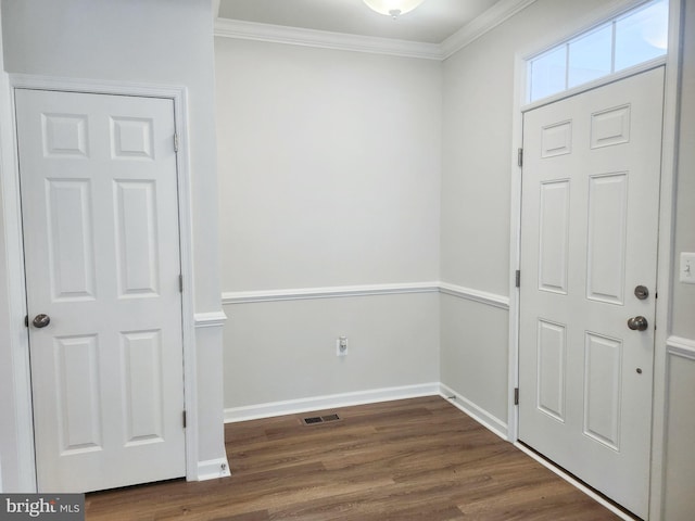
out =
<path fill-rule="evenodd" d="M 501 0 L 442 43 L 349 35 L 216 17 L 215 36 L 341 51 L 442 61 L 532 4 L 535 0 Z"/>

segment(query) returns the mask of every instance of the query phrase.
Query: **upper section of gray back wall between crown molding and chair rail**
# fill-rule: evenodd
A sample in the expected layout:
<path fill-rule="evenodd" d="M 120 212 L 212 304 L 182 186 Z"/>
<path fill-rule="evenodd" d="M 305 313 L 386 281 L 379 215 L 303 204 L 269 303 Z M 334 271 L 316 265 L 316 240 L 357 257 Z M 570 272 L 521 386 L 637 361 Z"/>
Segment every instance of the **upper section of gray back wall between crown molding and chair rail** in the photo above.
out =
<path fill-rule="evenodd" d="M 437 280 L 439 63 L 215 53 L 223 291 Z"/>

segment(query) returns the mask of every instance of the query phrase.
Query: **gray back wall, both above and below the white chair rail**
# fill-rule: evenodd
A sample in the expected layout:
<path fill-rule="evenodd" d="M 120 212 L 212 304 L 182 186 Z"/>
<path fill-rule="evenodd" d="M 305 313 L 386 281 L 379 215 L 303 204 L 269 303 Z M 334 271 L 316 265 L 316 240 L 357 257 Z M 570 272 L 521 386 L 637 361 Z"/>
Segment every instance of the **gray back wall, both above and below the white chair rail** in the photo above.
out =
<path fill-rule="evenodd" d="M 220 37 L 215 54 L 223 293 L 435 281 L 440 64 Z M 228 304 L 225 406 L 437 382 L 437 310 Z"/>

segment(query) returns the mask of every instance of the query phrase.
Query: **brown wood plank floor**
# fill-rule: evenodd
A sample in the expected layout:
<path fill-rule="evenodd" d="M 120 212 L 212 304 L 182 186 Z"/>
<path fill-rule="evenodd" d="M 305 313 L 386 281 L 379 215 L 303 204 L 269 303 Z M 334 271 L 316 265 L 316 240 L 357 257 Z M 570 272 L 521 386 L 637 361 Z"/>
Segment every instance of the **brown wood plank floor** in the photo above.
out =
<path fill-rule="evenodd" d="M 226 425 L 232 476 L 88 494 L 88 520 L 612 520 L 440 397 Z M 330 411 L 333 412 L 333 411 Z"/>

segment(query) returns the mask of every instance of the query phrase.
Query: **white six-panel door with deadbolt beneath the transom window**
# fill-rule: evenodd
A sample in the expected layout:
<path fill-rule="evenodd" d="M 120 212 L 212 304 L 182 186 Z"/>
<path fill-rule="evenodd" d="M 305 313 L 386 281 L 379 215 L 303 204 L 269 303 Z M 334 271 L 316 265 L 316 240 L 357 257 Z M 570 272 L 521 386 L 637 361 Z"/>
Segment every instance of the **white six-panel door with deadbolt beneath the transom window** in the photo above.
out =
<path fill-rule="evenodd" d="M 519 440 L 643 518 L 662 92 L 659 67 L 523 118 Z"/>

